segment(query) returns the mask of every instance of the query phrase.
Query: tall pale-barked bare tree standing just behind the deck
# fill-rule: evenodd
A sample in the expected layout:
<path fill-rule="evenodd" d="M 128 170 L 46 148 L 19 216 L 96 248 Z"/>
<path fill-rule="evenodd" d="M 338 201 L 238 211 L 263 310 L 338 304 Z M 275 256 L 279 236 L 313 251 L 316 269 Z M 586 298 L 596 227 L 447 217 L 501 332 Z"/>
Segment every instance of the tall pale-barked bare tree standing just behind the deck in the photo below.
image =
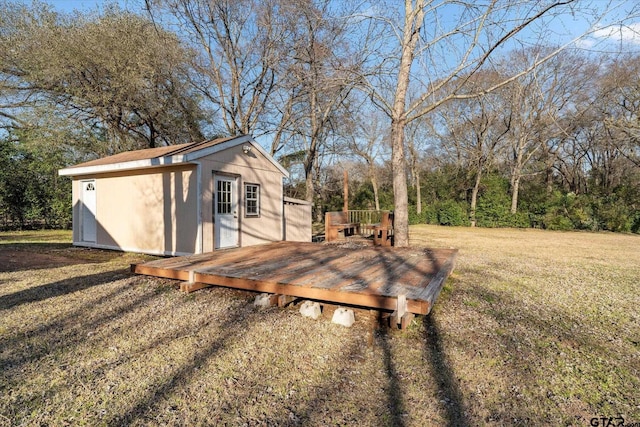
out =
<path fill-rule="evenodd" d="M 386 6 L 384 11 L 395 12 L 393 7 Z M 562 51 L 566 44 L 532 58 L 531 62 L 520 64 L 521 67 L 514 70 L 513 74 L 478 92 L 463 90 L 475 72 L 489 67 L 491 60 L 503 48 L 508 49 L 517 42 L 516 36 L 523 34 L 522 38 L 529 37 L 527 42 L 541 43 L 541 32 L 536 33 L 537 39 L 533 37 L 531 40 L 530 34 L 522 33 L 525 28 L 530 28 L 533 24 L 543 27 L 547 17 L 560 13 L 578 13 L 579 7 L 584 7 L 584 11 L 587 11 L 589 9 L 586 6 L 588 5 L 584 2 L 573 0 L 405 0 L 404 11 L 396 15 L 377 13 L 382 7 L 376 13 L 369 14 L 371 19 L 383 23 L 385 33 L 391 34 L 395 46 L 391 50 L 391 57 L 380 59 L 383 65 L 388 64 L 391 69 L 381 72 L 378 79 L 368 79 L 367 89 L 391 120 L 398 246 L 407 246 L 409 242 L 404 152 L 407 124 L 450 100 L 482 96 L 531 72 Z M 605 7 L 598 10 L 605 10 L 606 5 L 603 6 Z M 602 12 L 598 13 L 599 16 L 601 14 Z M 389 49 L 384 51 L 385 55 L 388 53 Z"/>

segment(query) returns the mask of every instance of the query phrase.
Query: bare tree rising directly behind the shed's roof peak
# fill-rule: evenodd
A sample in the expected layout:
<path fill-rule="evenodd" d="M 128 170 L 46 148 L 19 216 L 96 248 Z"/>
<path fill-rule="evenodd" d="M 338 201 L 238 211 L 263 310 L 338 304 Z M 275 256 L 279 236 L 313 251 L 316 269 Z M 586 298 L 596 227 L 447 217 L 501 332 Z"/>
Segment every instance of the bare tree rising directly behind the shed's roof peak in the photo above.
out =
<path fill-rule="evenodd" d="M 278 0 L 146 0 L 155 22 L 175 25 L 200 55 L 191 83 L 231 135 L 265 132 L 287 28 Z M 163 21 L 164 12 L 173 16 Z"/>

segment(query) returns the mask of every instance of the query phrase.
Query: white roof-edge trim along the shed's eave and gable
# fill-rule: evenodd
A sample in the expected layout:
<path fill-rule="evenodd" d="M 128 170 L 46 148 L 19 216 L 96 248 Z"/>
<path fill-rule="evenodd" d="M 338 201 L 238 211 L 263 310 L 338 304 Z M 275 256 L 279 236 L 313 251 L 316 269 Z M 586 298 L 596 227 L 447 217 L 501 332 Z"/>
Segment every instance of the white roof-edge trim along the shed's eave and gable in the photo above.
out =
<path fill-rule="evenodd" d="M 260 152 L 269 162 L 271 162 L 286 178 L 289 177 L 289 172 L 282 167 L 280 163 L 276 161 L 269 153 L 267 153 L 260 144 L 258 144 L 251 136 L 242 135 L 230 139 L 220 144 L 213 145 L 211 147 L 196 150 L 188 154 L 177 154 L 175 156 L 155 157 L 153 159 L 145 160 L 132 160 L 129 162 L 110 163 L 106 165 L 84 166 L 84 167 L 70 167 L 60 169 L 58 175 L 60 176 L 78 176 L 89 175 L 95 173 L 106 172 L 120 172 L 135 169 L 145 169 L 158 166 L 179 165 L 184 163 L 195 163 L 194 160 L 198 160 L 202 157 L 218 153 L 223 150 L 235 147 L 240 144 L 251 144 L 256 150 Z"/>

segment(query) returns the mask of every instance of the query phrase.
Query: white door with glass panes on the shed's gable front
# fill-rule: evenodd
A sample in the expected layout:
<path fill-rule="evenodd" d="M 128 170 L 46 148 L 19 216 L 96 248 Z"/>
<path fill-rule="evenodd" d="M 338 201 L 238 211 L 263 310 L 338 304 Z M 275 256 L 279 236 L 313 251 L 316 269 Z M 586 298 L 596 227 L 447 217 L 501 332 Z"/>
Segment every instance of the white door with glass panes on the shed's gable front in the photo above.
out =
<path fill-rule="evenodd" d="M 239 234 L 236 179 L 216 175 L 214 185 L 215 249 L 236 247 Z"/>

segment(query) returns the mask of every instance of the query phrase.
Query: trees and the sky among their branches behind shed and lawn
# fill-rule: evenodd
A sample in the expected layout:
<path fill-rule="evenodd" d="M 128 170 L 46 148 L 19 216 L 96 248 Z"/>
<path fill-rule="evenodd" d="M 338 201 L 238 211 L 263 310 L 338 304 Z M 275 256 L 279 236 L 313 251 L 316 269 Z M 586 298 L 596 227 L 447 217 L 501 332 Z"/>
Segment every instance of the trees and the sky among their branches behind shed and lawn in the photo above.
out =
<path fill-rule="evenodd" d="M 350 205 L 394 209 L 400 246 L 410 222 L 640 229 L 636 6 L 0 6 L 0 226 L 68 227 L 59 168 L 251 134 L 317 218 L 348 169 Z"/>

